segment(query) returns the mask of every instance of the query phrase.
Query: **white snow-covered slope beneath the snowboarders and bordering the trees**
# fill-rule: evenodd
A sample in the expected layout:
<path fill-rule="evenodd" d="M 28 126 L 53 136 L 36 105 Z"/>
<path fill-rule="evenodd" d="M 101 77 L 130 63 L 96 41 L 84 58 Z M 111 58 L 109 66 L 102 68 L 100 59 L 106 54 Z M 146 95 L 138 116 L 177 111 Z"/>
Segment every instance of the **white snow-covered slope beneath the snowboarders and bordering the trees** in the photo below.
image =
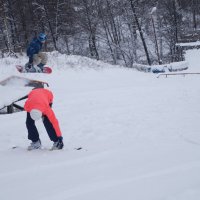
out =
<path fill-rule="evenodd" d="M 198 71 L 199 53 L 187 54 L 188 71 Z M 19 74 L 14 65 L 25 61 L 1 60 L 0 80 L 50 84 L 65 148 L 46 149 L 40 121 L 45 149 L 28 152 L 26 113 L 0 115 L 1 200 L 200 199 L 199 75 L 157 78 L 59 55 L 50 57 L 51 75 Z"/>

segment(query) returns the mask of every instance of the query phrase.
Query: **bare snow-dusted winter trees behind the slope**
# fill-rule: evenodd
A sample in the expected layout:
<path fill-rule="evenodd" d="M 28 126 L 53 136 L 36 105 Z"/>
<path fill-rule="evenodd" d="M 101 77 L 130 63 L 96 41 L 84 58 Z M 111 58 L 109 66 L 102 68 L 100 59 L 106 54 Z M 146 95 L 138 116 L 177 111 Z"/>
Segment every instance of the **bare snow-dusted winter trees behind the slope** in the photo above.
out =
<path fill-rule="evenodd" d="M 40 32 L 45 51 L 131 67 L 179 61 L 176 43 L 198 35 L 199 0 L 0 0 L 0 57 L 25 52 Z M 191 37 L 190 37 L 191 38 Z"/>

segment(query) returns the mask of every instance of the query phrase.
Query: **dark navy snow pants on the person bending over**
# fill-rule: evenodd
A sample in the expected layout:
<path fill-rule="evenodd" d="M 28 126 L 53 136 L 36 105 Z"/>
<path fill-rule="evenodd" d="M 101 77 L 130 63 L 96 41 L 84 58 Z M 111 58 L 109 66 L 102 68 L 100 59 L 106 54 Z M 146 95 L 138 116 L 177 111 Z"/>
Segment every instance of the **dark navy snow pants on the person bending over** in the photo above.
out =
<path fill-rule="evenodd" d="M 57 142 L 58 137 L 56 135 L 56 131 L 47 116 L 43 116 L 43 124 L 49 135 L 50 140 L 53 142 Z M 27 112 L 26 127 L 28 129 L 28 139 L 32 142 L 37 142 L 39 140 L 39 133 L 35 126 L 35 121 L 31 118 L 29 112 Z"/>

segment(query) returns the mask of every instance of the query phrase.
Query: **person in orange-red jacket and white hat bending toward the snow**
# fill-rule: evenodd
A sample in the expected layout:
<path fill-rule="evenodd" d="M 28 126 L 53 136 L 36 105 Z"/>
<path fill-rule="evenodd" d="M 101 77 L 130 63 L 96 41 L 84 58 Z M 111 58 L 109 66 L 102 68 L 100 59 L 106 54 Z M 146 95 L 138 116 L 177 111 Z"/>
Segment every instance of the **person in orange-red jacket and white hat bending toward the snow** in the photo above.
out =
<path fill-rule="evenodd" d="M 28 139 L 32 141 L 28 150 L 41 148 L 39 133 L 35 126 L 35 121 L 40 118 L 43 119 L 43 124 L 50 140 L 54 142 L 52 150 L 63 148 L 62 133 L 58 120 L 51 108 L 52 103 L 53 94 L 50 90 L 37 88 L 28 94 L 28 99 L 24 105 L 24 109 L 27 111 L 26 127 L 28 130 Z"/>

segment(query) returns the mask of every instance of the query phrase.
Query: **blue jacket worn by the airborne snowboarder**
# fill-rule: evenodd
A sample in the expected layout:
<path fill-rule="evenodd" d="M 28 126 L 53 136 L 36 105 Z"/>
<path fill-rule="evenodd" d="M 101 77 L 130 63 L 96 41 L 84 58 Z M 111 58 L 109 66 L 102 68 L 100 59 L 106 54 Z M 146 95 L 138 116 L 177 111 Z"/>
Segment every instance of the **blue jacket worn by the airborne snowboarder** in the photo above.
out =
<path fill-rule="evenodd" d="M 26 51 L 30 63 L 33 62 L 33 55 L 38 54 L 41 49 L 42 43 L 37 38 L 33 38 Z"/>

